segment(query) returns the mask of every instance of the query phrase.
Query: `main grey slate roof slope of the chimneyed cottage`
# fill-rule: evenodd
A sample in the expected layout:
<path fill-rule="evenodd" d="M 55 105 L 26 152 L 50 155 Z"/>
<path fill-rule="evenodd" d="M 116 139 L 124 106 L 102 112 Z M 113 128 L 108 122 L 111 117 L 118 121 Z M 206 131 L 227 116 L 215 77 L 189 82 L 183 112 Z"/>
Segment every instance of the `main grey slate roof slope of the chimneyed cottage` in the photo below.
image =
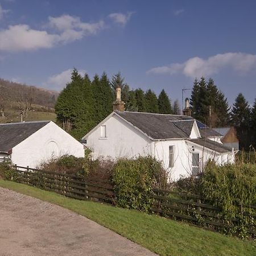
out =
<path fill-rule="evenodd" d="M 195 119 L 185 115 L 115 112 L 152 139 L 189 138 Z"/>

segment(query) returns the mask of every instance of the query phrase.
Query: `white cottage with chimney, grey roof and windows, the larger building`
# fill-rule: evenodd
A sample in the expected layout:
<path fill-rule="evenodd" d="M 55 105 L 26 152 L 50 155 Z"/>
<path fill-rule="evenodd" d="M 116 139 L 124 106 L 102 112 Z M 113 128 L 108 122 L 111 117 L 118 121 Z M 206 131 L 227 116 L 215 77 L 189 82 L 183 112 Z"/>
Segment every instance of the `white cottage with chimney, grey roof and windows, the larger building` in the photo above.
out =
<path fill-rule="evenodd" d="M 82 138 L 93 158 L 118 159 L 151 155 L 160 160 L 170 180 L 203 171 L 209 159 L 233 163 L 234 150 L 221 134 L 186 115 L 123 111 L 117 92 L 114 112 Z"/>

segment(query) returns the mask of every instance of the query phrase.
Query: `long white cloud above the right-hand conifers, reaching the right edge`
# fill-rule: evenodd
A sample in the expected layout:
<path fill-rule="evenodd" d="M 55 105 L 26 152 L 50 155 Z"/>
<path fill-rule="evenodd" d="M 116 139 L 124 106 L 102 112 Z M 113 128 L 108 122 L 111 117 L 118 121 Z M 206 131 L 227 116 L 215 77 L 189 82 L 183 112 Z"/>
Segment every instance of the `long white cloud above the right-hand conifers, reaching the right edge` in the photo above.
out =
<path fill-rule="evenodd" d="M 202 59 L 193 57 L 184 63 L 172 63 L 167 66 L 155 67 L 147 71 L 154 74 L 174 75 L 182 73 L 188 77 L 211 76 L 219 73 L 223 68 L 230 68 L 239 73 L 246 73 L 256 69 L 256 55 L 227 52 Z"/>

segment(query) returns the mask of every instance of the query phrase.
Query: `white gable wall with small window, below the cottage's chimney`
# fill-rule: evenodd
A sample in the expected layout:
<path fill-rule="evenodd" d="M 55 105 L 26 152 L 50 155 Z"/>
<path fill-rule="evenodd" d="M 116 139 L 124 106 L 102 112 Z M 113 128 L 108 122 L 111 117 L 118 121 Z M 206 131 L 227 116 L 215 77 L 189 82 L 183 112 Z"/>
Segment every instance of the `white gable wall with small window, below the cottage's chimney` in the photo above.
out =
<path fill-rule="evenodd" d="M 106 138 L 101 138 L 101 126 Z M 93 158 L 134 158 L 151 154 L 151 140 L 117 115 L 112 115 L 86 137 L 86 146 L 93 149 Z"/>

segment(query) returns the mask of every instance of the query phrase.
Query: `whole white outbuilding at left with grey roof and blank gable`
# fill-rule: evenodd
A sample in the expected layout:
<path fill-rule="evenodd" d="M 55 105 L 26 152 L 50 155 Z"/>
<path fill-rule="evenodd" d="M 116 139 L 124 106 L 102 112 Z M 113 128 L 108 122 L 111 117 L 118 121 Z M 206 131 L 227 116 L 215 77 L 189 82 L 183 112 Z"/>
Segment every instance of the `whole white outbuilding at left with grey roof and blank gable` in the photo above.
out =
<path fill-rule="evenodd" d="M 62 155 L 84 157 L 84 145 L 52 121 L 0 124 L 0 158 L 35 168 Z"/>

